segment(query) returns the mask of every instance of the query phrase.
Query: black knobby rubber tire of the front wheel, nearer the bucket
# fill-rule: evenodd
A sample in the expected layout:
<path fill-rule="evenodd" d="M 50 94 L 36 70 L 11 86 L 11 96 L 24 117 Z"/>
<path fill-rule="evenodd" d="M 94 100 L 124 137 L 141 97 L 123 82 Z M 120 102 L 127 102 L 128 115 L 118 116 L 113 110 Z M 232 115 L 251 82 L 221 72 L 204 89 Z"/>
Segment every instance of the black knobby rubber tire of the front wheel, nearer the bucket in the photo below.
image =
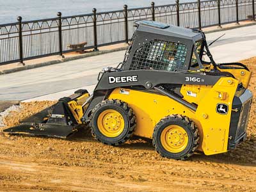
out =
<path fill-rule="evenodd" d="M 104 136 L 104 134 L 99 131 L 97 126 L 97 118 L 99 117 L 100 113 L 106 109 L 114 109 L 118 111 L 124 118 L 124 131 L 122 131 L 119 136 L 114 138 Z M 103 100 L 92 110 L 89 125 L 94 138 L 104 144 L 117 146 L 131 138 L 136 127 L 136 117 L 132 112 L 132 109 L 128 107 L 127 103 L 122 102 L 121 100 Z"/>

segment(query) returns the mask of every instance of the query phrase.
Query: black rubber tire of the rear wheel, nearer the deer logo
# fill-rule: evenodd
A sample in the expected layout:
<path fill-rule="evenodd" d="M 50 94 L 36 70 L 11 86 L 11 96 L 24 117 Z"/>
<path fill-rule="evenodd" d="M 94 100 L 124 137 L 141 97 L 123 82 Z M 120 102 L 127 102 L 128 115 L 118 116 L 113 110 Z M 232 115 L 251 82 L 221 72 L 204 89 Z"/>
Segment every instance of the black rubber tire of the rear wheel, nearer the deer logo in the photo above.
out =
<path fill-rule="evenodd" d="M 172 153 L 166 150 L 162 143 L 161 143 L 161 133 L 168 125 L 179 125 L 188 134 L 188 145 L 187 147 L 179 153 Z M 196 127 L 195 123 L 191 121 L 187 116 L 182 115 L 172 115 L 166 116 L 165 118 L 161 119 L 160 122 L 157 123 L 156 127 L 154 128 L 153 133 L 153 145 L 156 148 L 156 151 L 163 157 L 167 157 L 169 159 L 178 159 L 178 160 L 185 160 L 188 157 L 192 156 L 198 148 L 199 145 L 199 132 L 198 128 Z"/>

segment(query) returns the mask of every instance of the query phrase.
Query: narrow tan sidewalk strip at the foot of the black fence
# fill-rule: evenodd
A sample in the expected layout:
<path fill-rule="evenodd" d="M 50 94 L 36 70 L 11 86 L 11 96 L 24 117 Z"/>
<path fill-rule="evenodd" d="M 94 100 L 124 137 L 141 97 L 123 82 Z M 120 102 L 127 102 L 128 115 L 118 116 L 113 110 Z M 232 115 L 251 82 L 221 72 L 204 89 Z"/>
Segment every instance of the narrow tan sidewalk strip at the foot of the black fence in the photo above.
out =
<path fill-rule="evenodd" d="M 216 31 L 224 31 L 228 29 L 240 28 L 243 26 L 251 26 L 254 24 L 256 24 L 256 22 L 246 20 L 246 21 L 240 22 L 239 25 L 237 25 L 236 23 L 231 23 L 231 24 L 223 25 L 222 28 L 219 28 L 218 26 L 212 26 L 209 28 L 203 28 L 202 30 L 205 33 L 213 33 Z M 77 59 L 86 58 L 90 56 L 96 56 L 99 54 L 106 54 L 109 52 L 122 51 L 122 50 L 125 50 L 126 47 L 127 47 L 127 44 L 122 43 L 122 44 L 99 47 L 99 51 L 93 51 L 92 49 L 88 49 L 86 50 L 86 53 L 83 53 L 83 54 L 79 52 L 69 52 L 67 54 L 63 54 L 65 58 L 61 58 L 61 56 L 56 55 L 56 56 L 48 56 L 45 58 L 38 58 L 35 60 L 26 60 L 24 61 L 25 66 L 23 66 L 21 63 L 11 63 L 8 65 L 0 65 L 0 75 L 9 74 L 12 72 L 18 72 L 20 70 L 44 67 L 47 65 L 53 65 L 53 64 L 62 63 L 65 61 L 77 60 Z"/>

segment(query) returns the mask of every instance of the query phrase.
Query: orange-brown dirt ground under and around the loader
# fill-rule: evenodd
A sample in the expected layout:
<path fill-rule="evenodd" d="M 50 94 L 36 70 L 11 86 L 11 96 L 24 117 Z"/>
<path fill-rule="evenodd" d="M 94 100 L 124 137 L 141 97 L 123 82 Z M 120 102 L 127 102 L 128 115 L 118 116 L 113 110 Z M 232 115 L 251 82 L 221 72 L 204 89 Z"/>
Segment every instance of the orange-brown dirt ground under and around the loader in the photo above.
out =
<path fill-rule="evenodd" d="M 256 71 L 256 58 L 243 63 Z M 255 80 L 253 74 L 254 95 Z M 68 140 L 0 132 L 0 191 L 256 191 L 255 101 L 244 143 L 226 154 L 195 154 L 188 161 L 160 157 L 150 140 L 140 138 L 109 147 L 89 131 Z M 22 104 L 4 118 L 5 127 L 53 103 Z"/>

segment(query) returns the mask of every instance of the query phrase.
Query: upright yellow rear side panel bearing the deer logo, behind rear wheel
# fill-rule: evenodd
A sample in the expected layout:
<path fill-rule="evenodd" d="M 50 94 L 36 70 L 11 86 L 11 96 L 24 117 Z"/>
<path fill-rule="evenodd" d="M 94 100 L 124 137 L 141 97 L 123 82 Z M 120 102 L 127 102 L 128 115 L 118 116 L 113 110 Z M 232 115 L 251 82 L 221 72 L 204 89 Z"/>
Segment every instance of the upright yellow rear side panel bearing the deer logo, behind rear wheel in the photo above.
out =
<path fill-rule="evenodd" d="M 198 102 L 196 117 L 204 130 L 202 148 L 206 155 L 227 151 L 232 102 L 237 84 L 236 79 L 222 77 Z M 227 113 L 220 113 L 220 110 L 218 113 L 221 105 L 227 105 Z"/>

